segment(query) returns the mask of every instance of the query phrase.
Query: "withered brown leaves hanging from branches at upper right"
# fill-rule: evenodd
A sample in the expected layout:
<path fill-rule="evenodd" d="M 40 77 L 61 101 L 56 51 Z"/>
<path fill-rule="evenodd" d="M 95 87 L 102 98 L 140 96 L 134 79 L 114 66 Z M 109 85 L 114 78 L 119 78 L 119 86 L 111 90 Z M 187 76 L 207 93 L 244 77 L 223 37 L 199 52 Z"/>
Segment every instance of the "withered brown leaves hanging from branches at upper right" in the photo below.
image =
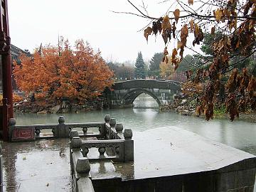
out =
<path fill-rule="evenodd" d="M 186 70 L 184 75 L 188 81 L 183 85 L 183 93 L 197 97 L 197 115 L 204 114 L 207 120 L 212 119 L 215 105 L 222 102 L 233 121 L 239 117 L 239 112 L 256 110 L 256 80 L 252 75 L 255 68 L 250 72 L 248 68 L 237 68 L 256 53 L 256 0 L 211 3 L 213 6 L 204 4 L 204 1 L 178 1 L 174 11 L 168 10 L 171 17 L 153 18 L 152 26 L 145 29 L 144 36 L 148 40 L 154 33 L 164 39 L 164 67 L 161 71 L 164 76 L 178 68 L 188 46 L 200 45 L 206 32 L 210 33 L 213 36 L 212 58 L 203 60 L 205 64 L 196 70 Z M 193 34 L 191 43 L 187 42 L 189 33 Z M 176 38 L 177 44 L 168 52 L 167 46 L 172 38 Z M 220 92 L 223 98 L 220 98 Z"/>

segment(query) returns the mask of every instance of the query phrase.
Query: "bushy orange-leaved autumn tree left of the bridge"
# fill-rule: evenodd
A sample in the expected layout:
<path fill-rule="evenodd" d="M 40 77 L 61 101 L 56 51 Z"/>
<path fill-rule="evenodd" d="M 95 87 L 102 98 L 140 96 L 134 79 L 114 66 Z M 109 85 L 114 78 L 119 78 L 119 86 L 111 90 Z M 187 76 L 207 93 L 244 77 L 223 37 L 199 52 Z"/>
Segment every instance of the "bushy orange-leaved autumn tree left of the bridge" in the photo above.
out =
<path fill-rule="evenodd" d="M 36 50 L 33 57 L 21 55 L 21 65 L 15 63 L 14 77 L 20 90 L 33 93 L 36 101 L 83 104 L 101 95 L 113 83 L 112 71 L 100 52 L 95 53 L 88 43 L 68 41 L 59 46 L 45 46 Z"/>

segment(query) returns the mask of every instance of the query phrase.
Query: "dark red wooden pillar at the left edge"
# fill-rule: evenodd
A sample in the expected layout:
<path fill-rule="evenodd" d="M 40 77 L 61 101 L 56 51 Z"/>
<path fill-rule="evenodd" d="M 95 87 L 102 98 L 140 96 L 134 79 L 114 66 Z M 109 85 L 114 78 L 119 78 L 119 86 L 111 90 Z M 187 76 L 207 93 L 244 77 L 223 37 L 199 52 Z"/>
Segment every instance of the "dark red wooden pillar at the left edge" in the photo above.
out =
<path fill-rule="evenodd" d="M 0 0 L 0 55 L 2 63 L 2 85 L 3 85 L 3 97 L 7 99 L 7 105 L 9 109 L 7 114 L 3 115 L 2 119 L 14 117 L 13 111 L 13 95 L 11 85 L 11 38 L 9 36 L 9 21 L 8 21 L 8 9 L 7 0 Z M 8 140 L 8 121 L 3 124 L 4 140 Z"/>

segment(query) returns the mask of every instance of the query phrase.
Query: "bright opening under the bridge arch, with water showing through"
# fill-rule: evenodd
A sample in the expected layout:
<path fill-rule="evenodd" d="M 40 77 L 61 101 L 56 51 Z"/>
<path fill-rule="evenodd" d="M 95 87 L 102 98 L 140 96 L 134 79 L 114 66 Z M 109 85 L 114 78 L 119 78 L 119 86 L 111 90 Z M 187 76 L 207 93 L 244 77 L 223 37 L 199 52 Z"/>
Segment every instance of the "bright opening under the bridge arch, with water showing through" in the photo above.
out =
<path fill-rule="evenodd" d="M 142 93 L 134 100 L 134 108 L 159 108 L 158 103 L 153 97 Z"/>

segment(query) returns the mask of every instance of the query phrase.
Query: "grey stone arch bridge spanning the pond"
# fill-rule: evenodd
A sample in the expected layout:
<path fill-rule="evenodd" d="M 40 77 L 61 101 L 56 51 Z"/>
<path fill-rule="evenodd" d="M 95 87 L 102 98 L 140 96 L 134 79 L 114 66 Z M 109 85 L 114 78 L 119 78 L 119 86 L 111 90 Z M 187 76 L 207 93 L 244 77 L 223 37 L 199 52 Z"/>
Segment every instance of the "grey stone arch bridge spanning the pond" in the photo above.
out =
<path fill-rule="evenodd" d="M 181 82 L 173 80 L 127 80 L 116 82 L 112 90 L 105 91 L 107 107 L 131 107 L 134 100 L 146 93 L 161 105 L 172 102 L 174 94 L 181 91 Z"/>

